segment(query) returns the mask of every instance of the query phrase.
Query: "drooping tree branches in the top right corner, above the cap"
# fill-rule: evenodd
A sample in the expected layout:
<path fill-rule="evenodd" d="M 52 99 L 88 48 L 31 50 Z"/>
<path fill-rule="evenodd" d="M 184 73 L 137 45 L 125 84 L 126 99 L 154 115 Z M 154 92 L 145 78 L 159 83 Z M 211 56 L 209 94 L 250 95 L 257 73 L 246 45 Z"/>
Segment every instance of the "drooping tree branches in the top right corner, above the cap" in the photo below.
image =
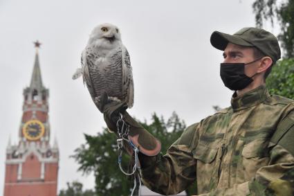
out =
<path fill-rule="evenodd" d="M 258 27 L 263 26 L 264 20 L 274 24 L 279 21 L 281 32 L 278 35 L 281 46 L 285 50 L 284 57 L 294 57 L 294 0 L 256 0 L 252 4 L 255 21 Z"/>

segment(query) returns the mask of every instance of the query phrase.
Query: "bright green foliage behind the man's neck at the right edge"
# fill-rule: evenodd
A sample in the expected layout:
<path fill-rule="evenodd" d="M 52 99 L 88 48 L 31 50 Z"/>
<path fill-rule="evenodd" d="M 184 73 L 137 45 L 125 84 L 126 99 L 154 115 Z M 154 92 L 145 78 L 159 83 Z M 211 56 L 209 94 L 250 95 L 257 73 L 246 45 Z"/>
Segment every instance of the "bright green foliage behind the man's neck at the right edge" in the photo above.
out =
<path fill-rule="evenodd" d="M 270 93 L 294 99 L 294 59 L 281 60 L 266 79 Z"/>

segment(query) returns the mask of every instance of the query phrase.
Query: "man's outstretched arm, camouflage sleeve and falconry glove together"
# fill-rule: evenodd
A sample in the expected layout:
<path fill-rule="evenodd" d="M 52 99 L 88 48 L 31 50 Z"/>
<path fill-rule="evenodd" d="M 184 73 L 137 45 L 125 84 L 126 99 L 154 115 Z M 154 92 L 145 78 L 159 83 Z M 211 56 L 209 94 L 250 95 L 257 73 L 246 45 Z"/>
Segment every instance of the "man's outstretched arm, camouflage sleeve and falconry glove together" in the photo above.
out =
<path fill-rule="evenodd" d="M 196 179 L 196 159 L 193 158 L 192 150 L 196 148 L 198 127 L 201 123 L 187 127 L 167 154 L 162 156 L 159 153 L 159 141 L 125 112 L 124 103 L 110 101 L 104 94 L 100 98 L 99 106 L 109 130 L 115 133 L 118 127 L 123 130 L 122 127 L 125 126 L 119 124 L 120 114 L 127 127 L 129 126 L 128 138 L 140 150 L 138 156 L 145 186 L 163 195 L 176 194 L 185 190 Z M 128 144 L 125 144 L 125 148 L 131 152 Z"/>

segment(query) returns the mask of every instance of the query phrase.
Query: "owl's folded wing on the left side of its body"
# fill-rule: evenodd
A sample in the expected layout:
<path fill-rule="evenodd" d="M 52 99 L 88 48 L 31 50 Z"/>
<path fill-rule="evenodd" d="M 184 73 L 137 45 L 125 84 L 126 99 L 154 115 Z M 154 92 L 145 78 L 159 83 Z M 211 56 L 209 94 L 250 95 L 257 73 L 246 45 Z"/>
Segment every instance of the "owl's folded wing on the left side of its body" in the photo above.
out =
<path fill-rule="evenodd" d="M 91 75 L 89 72 L 89 66 L 94 66 L 93 65 L 93 60 L 91 60 L 91 55 L 89 55 L 89 52 L 85 48 L 84 51 L 82 52 L 82 57 L 81 57 L 81 62 L 82 62 L 82 67 L 83 67 L 83 82 L 84 84 L 86 83 L 86 87 L 89 90 L 89 93 L 91 95 L 91 98 L 93 102 L 95 103 L 95 89 L 93 86 L 93 82 L 91 80 Z M 95 103 L 96 105 L 96 103 Z"/>

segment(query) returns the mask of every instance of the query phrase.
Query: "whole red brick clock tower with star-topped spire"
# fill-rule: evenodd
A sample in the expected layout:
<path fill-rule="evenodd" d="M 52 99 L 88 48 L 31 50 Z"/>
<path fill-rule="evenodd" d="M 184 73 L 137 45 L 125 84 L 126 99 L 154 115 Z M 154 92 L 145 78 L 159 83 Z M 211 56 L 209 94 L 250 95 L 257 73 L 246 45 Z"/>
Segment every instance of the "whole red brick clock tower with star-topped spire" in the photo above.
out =
<path fill-rule="evenodd" d="M 19 142 L 6 148 L 4 196 L 56 196 L 59 149 L 50 145 L 49 91 L 44 87 L 36 48 L 30 86 L 24 89 Z"/>

